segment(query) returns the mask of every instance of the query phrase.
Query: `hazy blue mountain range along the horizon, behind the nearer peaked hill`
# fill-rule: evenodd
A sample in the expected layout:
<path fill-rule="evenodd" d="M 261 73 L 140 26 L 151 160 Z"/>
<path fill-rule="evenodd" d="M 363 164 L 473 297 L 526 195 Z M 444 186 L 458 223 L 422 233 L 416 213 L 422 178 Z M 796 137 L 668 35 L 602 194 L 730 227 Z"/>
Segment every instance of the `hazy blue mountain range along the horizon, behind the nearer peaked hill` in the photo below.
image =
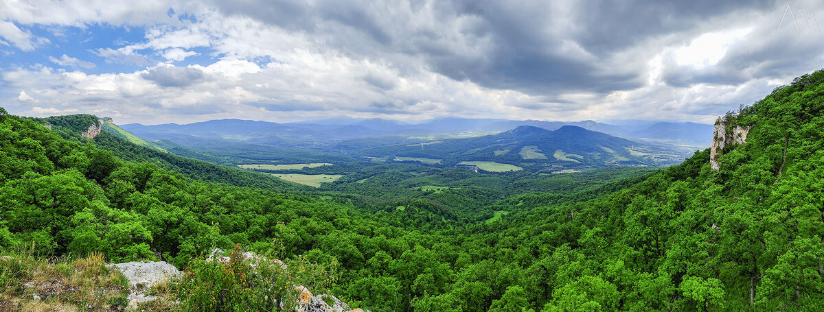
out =
<path fill-rule="evenodd" d="M 363 146 L 363 138 L 382 137 L 378 145 L 386 142 L 424 142 L 438 138 L 476 137 L 500 133 L 520 126 L 532 126 L 556 130 L 564 126 L 577 126 L 591 131 L 625 137 L 636 141 L 669 143 L 688 147 L 709 147 L 712 125 L 700 123 L 627 123 L 616 126 L 592 120 L 580 122 L 552 122 L 540 120 L 507 119 L 434 119 L 426 123 L 409 124 L 388 119 L 329 119 L 298 123 L 269 123 L 241 119 L 210 120 L 201 123 L 142 125 L 131 123 L 121 128 L 149 141 L 169 140 L 181 145 L 189 141 L 202 141 L 203 137 L 219 137 L 239 142 L 279 147 L 323 149 L 332 145 L 346 147 L 350 144 Z M 200 137 L 194 140 L 194 137 Z M 188 138 L 187 138 L 188 137 Z M 353 140 L 353 142 L 346 141 Z M 394 141 L 393 141 L 394 140 Z M 366 140 L 374 141 L 374 140 Z M 196 143 L 200 144 L 200 142 Z M 368 145 L 368 144 L 367 144 Z"/>

